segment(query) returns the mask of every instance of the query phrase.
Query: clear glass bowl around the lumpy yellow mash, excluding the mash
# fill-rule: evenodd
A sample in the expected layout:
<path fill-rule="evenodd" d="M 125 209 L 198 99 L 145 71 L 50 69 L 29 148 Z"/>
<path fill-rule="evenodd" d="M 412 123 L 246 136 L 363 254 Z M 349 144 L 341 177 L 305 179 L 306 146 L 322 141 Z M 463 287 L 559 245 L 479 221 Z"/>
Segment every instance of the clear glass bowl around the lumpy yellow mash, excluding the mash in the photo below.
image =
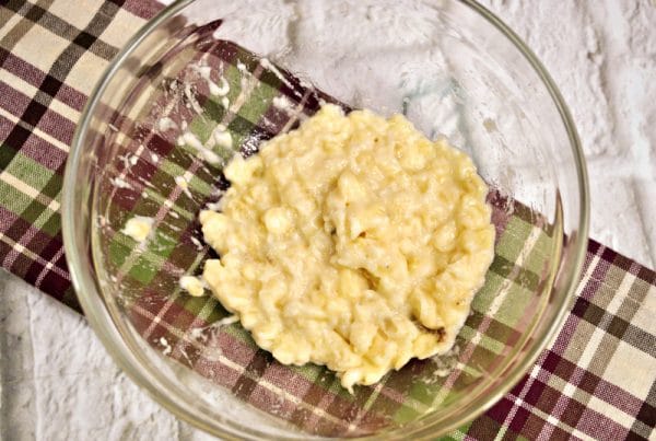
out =
<path fill-rule="evenodd" d="M 353 395 L 284 367 L 212 298 L 181 291 L 211 254 L 198 211 L 323 102 L 405 114 L 470 154 L 490 185 L 495 259 L 447 356 Z M 280 105 L 285 103 L 285 105 Z M 210 142 L 226 126 L 233 148 Z M 183 129 L 197 141 L 180 139 Z M 144 242 L 126 222 L 152 222 Z M 433 438 L 501 398 L 559 328 L 586 246 L 570 113 L 532 53 L 473 1 L 180 0 L 110 63 L 78 127 L 63 240 L 90 324 L 163 406 L 223 438 Z"/>

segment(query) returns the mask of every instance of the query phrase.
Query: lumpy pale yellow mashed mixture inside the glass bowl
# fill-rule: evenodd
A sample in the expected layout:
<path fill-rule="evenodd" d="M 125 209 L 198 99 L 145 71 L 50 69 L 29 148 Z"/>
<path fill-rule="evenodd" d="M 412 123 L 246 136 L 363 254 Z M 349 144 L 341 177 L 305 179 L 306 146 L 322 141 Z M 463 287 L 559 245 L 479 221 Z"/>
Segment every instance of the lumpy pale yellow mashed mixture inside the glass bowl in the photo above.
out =
<path fill-rule="evenodd" d="M 214 295 L 285 364 L 352 390 L 455 341 L 493 256 L 471 160 L 403 116 L 324 106 L 224 170 L 202 211 Z"/>

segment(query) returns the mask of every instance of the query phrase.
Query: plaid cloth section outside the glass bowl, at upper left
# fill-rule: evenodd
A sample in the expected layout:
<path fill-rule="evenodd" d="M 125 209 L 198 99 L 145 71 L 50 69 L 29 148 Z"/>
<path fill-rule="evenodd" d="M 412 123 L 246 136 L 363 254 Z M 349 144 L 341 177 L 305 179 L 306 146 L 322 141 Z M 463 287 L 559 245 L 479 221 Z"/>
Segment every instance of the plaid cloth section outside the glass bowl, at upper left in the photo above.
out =
<path fill-rule="evenodd" d="M 79 310 L 59 209 L 69 146 L 109 60 L 160 8 L 153 2 L 0 2 L 0 259 Z"/>

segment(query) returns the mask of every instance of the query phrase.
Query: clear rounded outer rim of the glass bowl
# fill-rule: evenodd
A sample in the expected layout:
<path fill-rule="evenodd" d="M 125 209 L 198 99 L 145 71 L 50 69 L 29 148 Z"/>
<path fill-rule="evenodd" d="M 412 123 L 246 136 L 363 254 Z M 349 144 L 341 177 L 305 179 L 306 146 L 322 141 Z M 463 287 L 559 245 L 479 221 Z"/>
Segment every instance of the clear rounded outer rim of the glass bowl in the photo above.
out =
<path fill-rule="evenodd" d="M 139 363 L 138 359 L 134 358 L 129 350 L 127 350 L 125 344 L 118 338 L 114 322 L 109 316 L 105 302 L 102 300 L 102 295 L 97 291 L 97 286 L 93 277 L 83 270 L 82 256 L 77 253 L 75 243 L 75 231 L 80 218 L 75 212 L 74 207 L 74 188 L 78 183 L 78 170 L 83 155 L 83 144 L 86 137 L 86 132 L 90 126 L 91 116 L 95 108 L 99 104 L 101 96 L 107 88 L 113 76 L 118 71 L 124 61 L 132 54 L 134 48 L 149 36 L 160 24 L 168 20 L 171 16 L 180 12 L 187 5 L 191 4 L 196 0 L 176 0 L 172 4 L 165 7 L 154 18 L 149 20 L 120 49 L 116 57 L 109 62 L 99 80 L 92 90 L 89 100 L 82 111 L 79 124 L 75 128 L 75 132 L 71 143 L 71 150 L 67 159 L 66 172 L 63 178 L 62 189 L 62 237 L 65 255 L 69 266 L 71 275 L 71 282 L 85 314 L 89 324 L 94 329 L 95 334 L 101 339 L 103 346 L 113 357 L 119 368 L 126 372 L 126 374 L 137 383 L 141 388 L 145 390 L 151 397 L 153 397 L 160 405 L 169 410 L 174 416 L 181 418 L 183 420 L 191 423 L 192 426 L 200 428 L 214 436 L 222 437 L 224 439 L 243 439 L 246 437 L 261 438 L 267 437 L 267 433 L 257 430 L 256 428 L 246 428 L 238 423 L 238 428 L 230 425 L 218 425 L 212 418 L 207 416 L 198 415 L 192 413 L 190 409 L 181 406 L 175 399 L 168 396 L 166 384 L 160 381 L 150 371 L 144 372 L 143 367 Z M 530 367 L 534 365 L 540 352 L 547 347 L 548 343 L 554 337 L 557 330 L 560 329 L 564 317 L 567 313 L 569 300 L 573 297 L 575 288 L 577 286 L 581 270 L 587 249 L 587 237 L 588 237 L 588 225 L 589 225 L 589 188 L 587 170 L 585 163 L 585 156 L 581 147 L 581 140 L 573 123 L 571 113 L 561 95 L 561 92 L 557 88 L 555 83 L 551 79 L 551 76 L 547 72 L 543 65 L 539 61 L 537 56 L 531 49 L 512 31 L 505 23 L 501 21 L 496 15 L 489 11 L 485 7 L 478 3 L 476 0 L 456 0 L 472 11 L 477 12 L 489 23 L 491 23 L 499 32 L 501 32 L 508 40 L 522 53 L 525 59 L 532 67 L 535 72 L 538 74 L 543 85 L 547 88 L 551 100 L 559 111 L 561 120 L 567 132 L 570 140 L 570 147 L 574 156 L 574 164 L 576 167 L 577 184 L 578 184 L 578 198 L 579 198 L 579 219 L 578 225 L 576 225 L 576 234 L 571 237 L 574 242 L 573 245 L 573 258 L 571 267 L 573 268 L 563 280 L 559 280 L 559 285 L 563 287 L 565 295 L 559 309 L 557 311 L 555 320 L 544 332 L 540 341 L 534 347 L 527 350 L 524 358 L 517 360 L 516 364 L 512 367 L 511 373 L 496 386 L 494 393 L 489 394 L 484 402 L 475 410 L 466 416 L 459 418 L 452 418 L 452 421 L 443 423 L 440 427 L 429 423 L 425 427 L 420 427 L 412 430 L 411 427 L 403 428 L 403 436 L 413 436 L 414 438 L 421 439 L 424 437 L 435 437 L 443 434 L 448 431 L 455 430 L 461 427 L 469 420 L 473 420 L 479 417 L 482 413 L 492 407 L 499 399 L 501 399 L 513 386 L 515 386 L 519 380 L 528 372 Z M 560 260 L 560 257 L 559 257 Z M 410 430 L 409 430 L 410 429 Z M 437 433 L 438 432 L 438 433 Z M 308 436 L 312 438 L 312 436 Z M 368 438 L 368 437 L 365 437 Z"/>

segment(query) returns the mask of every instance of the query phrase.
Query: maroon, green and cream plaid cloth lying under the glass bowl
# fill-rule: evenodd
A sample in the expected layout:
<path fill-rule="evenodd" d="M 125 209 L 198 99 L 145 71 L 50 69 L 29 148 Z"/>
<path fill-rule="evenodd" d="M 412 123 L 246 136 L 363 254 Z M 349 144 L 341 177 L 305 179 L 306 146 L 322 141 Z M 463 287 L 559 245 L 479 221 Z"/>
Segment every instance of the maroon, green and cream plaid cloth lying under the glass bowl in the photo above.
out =
<path fill-rule="evenodd" d="M 0 258 L 5 268 L 71 304 L 75 301 L 58 214 L 68 143 L 98 66 L 141 18 L 156 11 L 153 4 L 87 2 L 75 7 L 79 11 L 72 15 L 65 13 L 71 5 L 62 0 L 0 7 L 0 22 L 7 23 L 0 30 L 0 93 L 10 97 L 0 103 Z M 119 8 L 130 13 L 114 20 Z M 219 100 L 208 97 L 202 81 L 192 80 L 206 117 L 195 114 L 183 95 L 181 106 L 166 111 L 178 124 L 190 121 L 201 140 L 222 121 L 242 154 L 251 154 L 261 140 L 289 129 L 295 117 L 313 114 L 319 97 L 330 101 L 306 91 L 284 71 L 281 79 L 238 46 L 216 43 L 211 31 L 198 30 L 202 35 L 196 46 L 175 57 L 190 62 L 202 58 L 222 72 L 231 83 L 233 107 L 226 111 Z M 52 42 L 48 50 L 33 50 L 44 38 Z M 244 88 L 237 60 L 254 73 Z M 171 90 L 188 73 L 165 69 L 154 78 Z M 159 93 L 161 104 L 169 101 L 164 86 Z M 294 117 L 271 105 L 280 95 L 297 104 Z M 175 362 L 308 432 L 366 434 L 438 411 L 459 398 L 462 392 L 457 391 L 471 392 L 477 380 L 497 373 L 522 345 L 522 329 L 530 326 L 525 311 L 537 311 L 547 301 L 547 295 L 536 298 L 534 292 L 544 288 L 544 262 L 560 239 L 552 237 L 549 225 L 539 228 L 544 220 L 520 205 L 508 217 L 503 209 L 507 201 L 492 195 L 497 208 L 496 256 L 458 337 L 458 351 L 443 360 L 413 361 L 373 387 L 358 387 L 354 395 L 323 367 L 280 365 L 238 324 L 219 326 L 227 313 L 215 300 L 185 295 L 176 282 L 179 275 L 199 272 L 211 253 L 198 245 L 196 214 L 225 188 L 220 169 L 200 161 L 190 147 L 176 146 L 173 131 L 149 129 L 153 115 L 127 116 L 116 121 L 114 142 L 137 162 L 132 165 L 128 158 L 107 164 L 102 189 L 108 197 L 94 207 L 105 224 L 96 232 L 95 252 L 115 277 L 107 275 L 120 288 L 133 325 Z M 150 126 L 133 123 L 143 120 Z M 227 159 L 233 151 L 216 153 Z M 189 193 L 177 186 L 175 177 L 180 175 L 190 178 Z M 108 182 L 116 177 L 129 187 Z M 156 219 L 155 234 L 145 246 L 120 233 L 132 214 Z M 577 297 L 560 334 L 508 395 L 447 438 L 653 438 L 655 285 L 653 271 L 591 241 Z M 445 376 L 436 374 L 442 370 Z M 632 378 L 626 372 L 643 374 Z"/>

